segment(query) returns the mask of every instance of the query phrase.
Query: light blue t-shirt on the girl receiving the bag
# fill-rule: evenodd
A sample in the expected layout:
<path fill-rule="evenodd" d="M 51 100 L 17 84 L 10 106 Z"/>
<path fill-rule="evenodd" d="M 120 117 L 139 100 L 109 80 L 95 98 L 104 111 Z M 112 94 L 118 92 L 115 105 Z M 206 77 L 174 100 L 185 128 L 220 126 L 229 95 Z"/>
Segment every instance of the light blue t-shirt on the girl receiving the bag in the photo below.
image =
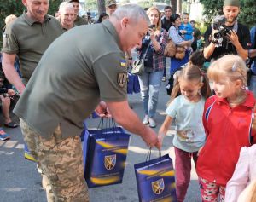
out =
<path fill-rule="evenodd" d="M 198 102 L 191 102 L 183 95 L 179 95 L 167 107 L 167 115 L 175 121 L 175 147 L 193 153 L 205 144 L 206 135 L 202 124 L 204 104 L 204 98 Z"/>

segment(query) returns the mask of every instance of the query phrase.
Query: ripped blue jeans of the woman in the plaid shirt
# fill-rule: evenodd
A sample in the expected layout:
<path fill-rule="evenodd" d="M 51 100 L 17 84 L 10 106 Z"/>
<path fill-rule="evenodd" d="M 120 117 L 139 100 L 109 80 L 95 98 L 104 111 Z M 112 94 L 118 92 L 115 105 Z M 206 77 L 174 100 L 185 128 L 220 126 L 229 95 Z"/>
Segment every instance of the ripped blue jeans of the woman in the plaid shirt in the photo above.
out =
<path fill-rule="evenodd" d="M 143 75 L 138 77 L 143 99 L 144 113 L 150 118 L 153 118 L 156 112 L 163 71 L 164 70 L 158 72 L 143 72 Z"/>

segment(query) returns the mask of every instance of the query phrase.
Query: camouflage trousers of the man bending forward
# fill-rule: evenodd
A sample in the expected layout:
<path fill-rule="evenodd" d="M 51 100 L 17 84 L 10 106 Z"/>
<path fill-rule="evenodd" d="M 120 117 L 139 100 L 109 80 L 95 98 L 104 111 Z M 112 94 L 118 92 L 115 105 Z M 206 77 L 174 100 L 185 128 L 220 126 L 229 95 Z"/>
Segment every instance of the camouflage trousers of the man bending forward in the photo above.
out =
<path fill-rule="evenodd" d="M 45 139 L 21 118 L 20 128 L 27 147 L 49 179 L 50 188 L 46 185 L 46 191 L 52 192 L 55 200 L 49 199 L 47 193 L 48 201 L 89 202 L 79 136 L 63 139 L 58 126 L 51 138 Z"/>

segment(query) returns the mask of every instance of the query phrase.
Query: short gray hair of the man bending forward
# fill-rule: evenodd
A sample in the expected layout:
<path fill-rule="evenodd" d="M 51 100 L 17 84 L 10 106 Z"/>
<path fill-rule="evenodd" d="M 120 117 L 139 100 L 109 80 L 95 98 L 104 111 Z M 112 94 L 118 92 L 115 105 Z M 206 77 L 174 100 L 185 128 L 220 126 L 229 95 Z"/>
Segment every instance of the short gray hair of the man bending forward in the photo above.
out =
<path fill-rule="evenodd" d="M 137 4 L 128 3 L 123 6 L 119 6 L 118 9 L 113 12 L 111 17 L 114 17 L 117 20 L 122 20 L 122 18 L 127 17 L 134 22 L 137 22 L 139 19 L 144 19 L 148 24 L 150 23 L 148 14 L 146 14 L 144 9 Z"/>

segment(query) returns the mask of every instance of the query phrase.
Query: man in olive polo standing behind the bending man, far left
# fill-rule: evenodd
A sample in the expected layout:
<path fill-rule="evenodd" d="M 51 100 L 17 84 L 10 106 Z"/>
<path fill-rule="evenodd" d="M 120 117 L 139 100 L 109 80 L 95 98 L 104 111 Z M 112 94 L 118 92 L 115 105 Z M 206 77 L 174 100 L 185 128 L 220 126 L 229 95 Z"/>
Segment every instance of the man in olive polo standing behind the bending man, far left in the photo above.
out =
<path fill-rule="evenodd" d="M 59 21 L 47 14 L 49 0 L 37 0 L 37 3 L 33 0 L 22 0 L 22 3 L 26 6 L 26 11 L 13 24 L 7 26 L 3 34 L 3 71 L 20 94 L 25 89 L 45 49 L 63 33 Z M 15 70 L 16 55 L 20 59 L 22 78 Z M 37 159 L 35 149 L 30 147 L 30 152 Z M 43 182 L 47 198 L 50 199 L 51 190 L 45 176 Z"/>

